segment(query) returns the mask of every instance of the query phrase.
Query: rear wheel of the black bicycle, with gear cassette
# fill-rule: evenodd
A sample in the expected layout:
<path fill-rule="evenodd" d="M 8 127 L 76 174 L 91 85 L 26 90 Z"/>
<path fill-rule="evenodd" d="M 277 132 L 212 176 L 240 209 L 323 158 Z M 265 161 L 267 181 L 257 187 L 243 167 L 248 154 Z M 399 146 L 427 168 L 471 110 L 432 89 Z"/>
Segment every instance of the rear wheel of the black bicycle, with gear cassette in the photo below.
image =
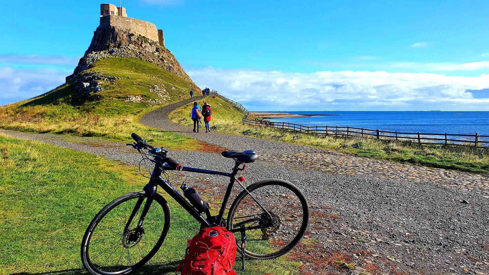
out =
<path fill-rule="evenodd" d="M 243 190 L 231 205 L 227 228 L 245 230 L 244 255 L 251 259 L 273 259 L 289 252 L 304 236 L 309 223 L 306 197 L 292 183 L 264 180 L 246 187 L 267 212 Z M 265 226 L 266 225 L 266 226 Z M 236 232 L 241 252 L 241 232 Z"/>

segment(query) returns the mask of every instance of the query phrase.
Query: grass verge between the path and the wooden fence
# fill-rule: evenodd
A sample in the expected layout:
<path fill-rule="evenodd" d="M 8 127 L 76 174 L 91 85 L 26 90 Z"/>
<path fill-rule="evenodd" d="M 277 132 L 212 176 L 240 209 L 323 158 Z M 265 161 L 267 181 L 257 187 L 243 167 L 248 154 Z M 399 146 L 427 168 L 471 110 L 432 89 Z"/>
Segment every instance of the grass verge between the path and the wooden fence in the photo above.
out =
<path fill-rule="evenodd" d="M 489 174 L 489 147 L 423 145 L 420 148 L 412 143 L 372 138 L 299 135 L 285 130 L 244 125 L 241 123 L 244 114 L 230 104 L 211 96 L 204 100 L 212 105 L 211 130 L 216 132 L 313 146 L 362 157 Z M 189 117 L 191 107 L 191 105 L 180 107 L 170 114 L 171 120 L 174 123 L 191 125 Z"/>

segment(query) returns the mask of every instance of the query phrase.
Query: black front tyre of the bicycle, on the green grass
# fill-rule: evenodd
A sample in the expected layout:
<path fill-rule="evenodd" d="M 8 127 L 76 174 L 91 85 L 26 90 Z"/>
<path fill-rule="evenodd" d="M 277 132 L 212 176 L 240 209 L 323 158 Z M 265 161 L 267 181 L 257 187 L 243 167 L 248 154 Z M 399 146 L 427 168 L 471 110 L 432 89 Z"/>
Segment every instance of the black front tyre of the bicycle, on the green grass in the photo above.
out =
<path fill-rule="evenodd" d="M 81 245 L 81 258 L 82 258 L 82 263 L 87 269 L 87 271 L 92 274 L 92 275 L 122 275 L 122 274 L 128 274 L 130 272 L 133 272 L 134 270 L 137 270 L 141 268 L 144 264 L 146 264 L 159 250 L 161 245 L 163 244 L 163 241 L 166 238 L 166 234 L 168 233 L 168 230 L 170 228 L 170 219 L 171 219 L 171 212 L 170 212 L 170 207 L 168 206 L 166 200 L 159 194 L 155 194 L 155 199 L 152 203 L 152 206 L 154 203 L 158 203 L 164 212 L 164 226 L 163 230 L 161 232 L 161 235 L 158 238 L 158 241 L 156 242 L 154 248 L 145 256 L 143 257 L 139 262 L 136 264 L 128 267 L 127 269 L 117 271 L 117 272 L 105 272 L 102 270 L 97 269 L 94 264 L 90 261 L 89 258 L 89 245 L 90 245 L 90 240 L 92 237 L 93 231 L 96 229 L 97 225 L 99 222 L 116 206 L 121 205 L 124 202 L 127 202 L 131 199 L 137 198 L 137 197 L 146 197 L 146 192 L 145 191 L 138 191 L 138 192 L 131 192 L 127 193 L 113 201 L 111 201 L 107 206 L 102 208 L 97 215 L 92 219 L 92 221 L 89 224 L 89 227 L 85 231 L 85 235 L 83 236 L 82 239 L 82 245 Z M 141 208 L 144 206 L 144 204 L 141 206 Z M 109 256 L 110 257 L 110 256 Z"/>

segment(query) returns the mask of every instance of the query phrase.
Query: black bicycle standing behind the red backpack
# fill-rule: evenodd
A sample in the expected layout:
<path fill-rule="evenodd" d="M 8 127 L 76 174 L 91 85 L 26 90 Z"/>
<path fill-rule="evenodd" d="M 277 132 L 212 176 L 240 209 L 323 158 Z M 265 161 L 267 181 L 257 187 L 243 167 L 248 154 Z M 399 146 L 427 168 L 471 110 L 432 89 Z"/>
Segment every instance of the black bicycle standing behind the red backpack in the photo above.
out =
<path fill-rule="evenodd" d="M 238 252 L 242 254 L 243 269 L 244 257 L 279 257 L 289 252 L 303 237 L 309 222 L 309 206 L 304 194 L 295 185 L 268 179 L 246 187 L 244 178 L 237 177 L 238 172 L 246 168 L 246 163 L 258 158 L 254 151 L 222 152 L 223 157 L 235 160 L 232 172 L 226 173 L 182 166 L 167 156 L 168 150 L 153 147 L 136 134 L 131 137 L 135 142 L 127 145 L 138 150 L 143 157 L 141 161 L 154 163 L 154 168 L 149 183 L 142 191 L 113 200 L 91 221 L 81 245 L 82 262 L 89 273 L 127 274 L 155 255 L 170 228 L 170 208 L 156 192 L 157 186 L 199 221 L 201 227 L 223 226 L 234 232 Z M 146 166 L 150 172 L 150 167 Z M 166 173 L 169 170 L 229 177 L 219 214 L 212 216 L 208 204 L 186 184 L 180 186 L 183 195 L 180 194 L 169 181 Z M 227 219 L 224 219 L 235 182 L 244 190 L 231 204 Z"/>

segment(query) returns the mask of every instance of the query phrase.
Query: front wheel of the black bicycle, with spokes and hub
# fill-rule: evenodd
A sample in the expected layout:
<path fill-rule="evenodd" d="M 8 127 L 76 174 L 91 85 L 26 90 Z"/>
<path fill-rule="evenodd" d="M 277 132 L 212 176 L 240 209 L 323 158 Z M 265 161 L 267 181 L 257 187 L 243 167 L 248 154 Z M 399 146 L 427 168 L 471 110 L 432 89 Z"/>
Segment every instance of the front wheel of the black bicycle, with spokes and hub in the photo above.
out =
<path fill-rule="evenodd" d="M 135 230 L 147 200 L 145 193 L 132 192 L 119 197 L 93 218 L 81 247 L 82 263 L 89 273 L 127 274 L 143 266 L 158 251 L 170 227 L 170 208 L 156 194 L 143 230 Z"/>

